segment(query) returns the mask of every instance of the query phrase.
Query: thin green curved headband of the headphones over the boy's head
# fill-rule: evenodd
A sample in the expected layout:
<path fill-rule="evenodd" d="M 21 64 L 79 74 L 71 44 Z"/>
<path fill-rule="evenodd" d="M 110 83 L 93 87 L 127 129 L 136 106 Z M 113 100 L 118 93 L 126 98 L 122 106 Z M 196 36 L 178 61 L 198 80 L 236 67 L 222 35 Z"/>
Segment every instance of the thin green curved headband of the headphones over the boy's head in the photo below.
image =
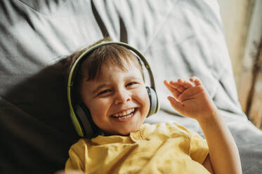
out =
<path fill-rule="evenodd" d="M 117 41 L 103 41 L 100 44 L 96 44 L 95 46 L 91 46 L 86 51 L 84 51 L 84 53 L 81 53 L 81 55 L 79 55 L 79 58 L 77 58 L 77 60 L 74 61 L 72 68 L 70 69 L 70 74 L 69 74 L 68 82 L 67 82 L 67 100 L 68 100 L 69 107 L 70 107 L 70 116 L 71 116 L 72 122 L 74 124 L 74 128 L 76 128 L 77 133 L 81 137 L 84 136 L 83 132 L 81 131 L 81 125 L 80 125 L 81 122 L 79 123 L 79 121 L 77 120 L 77 116 L 76 116 L 76 113 L 74 111 L 74 107 L 72 105 L 72 86 L 73 86 L 73 83 L 74 83 L 74 74 L 77 72 L 77 67 L 79 65 L 79 62 L 81 62 L 81 60 L 84 60 L 84 58 L 86 58 L 86 56 L 89 55 L 92 51 L 96 50 L 96 48 L 98 48 L 100 46 L 109 45 L 109 44 L 117 44 L 119 46 L 124 46 L 124 47 L 128 48 L 129 50 L 133 51 L 133 53 L 136 53 L 136 55 L 138 55 L 140 60 L 143 61 L 145 68 L 148 69 L 149 76 L 150 76 L 150 86 L 151 86 L 151 88 L 153 88 L 155 90 L 155 80 L 154 80 L 154 76 L 152 74 L 152 70 L 150 68 L 150 65 L 148 64 L 148 61 L 145 59 L 145 57 L 142 55 L 142 53 L 140 53 L 138 50 L 136 50 L 136 48 L 133 48 L 132 46 L 129 46 L 129 44 L 126 44 L 124 42 L 117 42 Z M 159 102 L 157 102 L 157 103 L 159 103 Z M 157 105 L 157 111 L 158 110 L 159 110 L 159 105 Z"/>

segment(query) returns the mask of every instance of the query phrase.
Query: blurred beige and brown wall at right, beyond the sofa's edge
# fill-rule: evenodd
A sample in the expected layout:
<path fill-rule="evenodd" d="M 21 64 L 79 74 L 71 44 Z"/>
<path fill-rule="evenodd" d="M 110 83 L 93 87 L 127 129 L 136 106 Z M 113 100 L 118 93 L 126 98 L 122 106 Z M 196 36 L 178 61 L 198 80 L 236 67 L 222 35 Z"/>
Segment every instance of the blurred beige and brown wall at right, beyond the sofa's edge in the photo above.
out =
<path fill-rule="evenodd" d="M 242 109 L 262 130 L 262 1 L 218 4 Z"/>

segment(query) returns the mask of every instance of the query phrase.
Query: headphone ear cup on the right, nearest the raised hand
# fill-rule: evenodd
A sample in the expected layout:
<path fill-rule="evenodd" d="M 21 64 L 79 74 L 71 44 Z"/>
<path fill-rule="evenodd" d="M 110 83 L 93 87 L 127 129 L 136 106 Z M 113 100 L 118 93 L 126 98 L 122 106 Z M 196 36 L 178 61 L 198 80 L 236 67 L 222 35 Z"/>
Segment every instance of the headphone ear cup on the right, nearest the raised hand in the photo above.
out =
<path fill-rule="evenodd" d="M 148 91 L 148 97 L 149 97 L 149 100 L 150 100 L 150 109 L 149 109 L 149 112 L 148 112 L 148 116 L 151 116 L 152 114 L 155 114 L 155 113 L 158 112 L 159 102 L 158 102 L 157 93 L 155 92 L 155 90 L 153 88 L 148 87 L 148 86 L 146 86 L 145 88 Z"/>

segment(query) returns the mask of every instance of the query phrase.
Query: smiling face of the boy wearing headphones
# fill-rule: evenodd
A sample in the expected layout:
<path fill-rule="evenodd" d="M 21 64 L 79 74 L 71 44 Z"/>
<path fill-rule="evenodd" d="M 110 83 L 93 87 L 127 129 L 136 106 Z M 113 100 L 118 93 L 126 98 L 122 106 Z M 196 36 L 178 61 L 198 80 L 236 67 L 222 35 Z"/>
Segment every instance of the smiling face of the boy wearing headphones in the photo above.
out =
<path fill-rule="evenodd" d="M 98 78 L 84 75 L 81 97 L 96 126 L 112 135 L 137 131 L 150 108 L 148 92 L 140 69 L 133 62 L 125 69 L 103 64 Z"/>

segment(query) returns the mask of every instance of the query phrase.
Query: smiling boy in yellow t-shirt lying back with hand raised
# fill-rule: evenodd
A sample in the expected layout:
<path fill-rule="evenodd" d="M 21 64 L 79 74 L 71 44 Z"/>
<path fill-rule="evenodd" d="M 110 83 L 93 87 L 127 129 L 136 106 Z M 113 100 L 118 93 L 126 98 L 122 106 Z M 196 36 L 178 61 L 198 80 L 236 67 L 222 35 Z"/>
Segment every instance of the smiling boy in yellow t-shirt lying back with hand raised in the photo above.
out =
<path fill-rule="evenodd" d="M 71 56 L 72 62 L 78 54 Z M 197 77 L 190 78 L 194 85 L 182 79 L 165 80 L 164 85 L 173 95 L 168 97 L 171 106 L 196 119 L 207 142 L 176 123 L 143 124 L 150 100 L 142 67 L 124 46 L 100 46 L 85 58 L 79 72 L 77 100 L 105 135 L 74 144 L 66 171 L 242 173 L 232 135 Z"/>

